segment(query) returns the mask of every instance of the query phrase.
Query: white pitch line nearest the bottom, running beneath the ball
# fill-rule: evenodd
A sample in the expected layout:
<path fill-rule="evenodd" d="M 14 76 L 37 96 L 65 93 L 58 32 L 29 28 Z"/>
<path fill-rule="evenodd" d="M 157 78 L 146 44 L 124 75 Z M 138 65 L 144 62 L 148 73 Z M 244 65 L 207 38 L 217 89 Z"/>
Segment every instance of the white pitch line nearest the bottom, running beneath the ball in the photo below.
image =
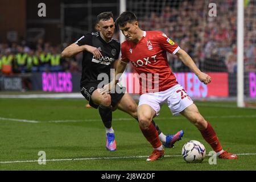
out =
<path fill-rule="evenodd" d="M 236 154 L 236 155 L 256 155 L 256 154 Z M 211 156 L 211 155 L 207 155 Z M 61 162 L 61 161 L 74 161 L 74 160 L 106 160 L 106 159 L 139 159 L 147 158 L 148 156 L 120 156 L 120 157 L 102 157 L 102 158 L 75 158 L 75 159 L 49 159 L 49 160 L 16 160 L 16 161 L 3 161 L 0 164 L 10 163 L 34 163 L 34 162 Z M 181 157 L 181 155 L 164 155 L 164 158 Z"/>

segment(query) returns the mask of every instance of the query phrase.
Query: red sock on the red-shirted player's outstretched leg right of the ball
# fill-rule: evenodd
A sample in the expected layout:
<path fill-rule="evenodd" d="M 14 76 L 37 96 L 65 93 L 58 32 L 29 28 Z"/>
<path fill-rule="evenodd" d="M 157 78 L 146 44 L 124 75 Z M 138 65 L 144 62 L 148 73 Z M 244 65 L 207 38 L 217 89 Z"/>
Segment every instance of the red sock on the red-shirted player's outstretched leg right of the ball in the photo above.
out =
<path fill-rule="evenodd" d="M 213 127 L 210 125 L 209 122 L 207 122 L 207 129 L 199 130 L 201 134 L 203 135 L 205 141 L 207 141 L 210 146 L 212 146 L 213 150 L 215 152 L 220 152 L 222 150 L 222 146 L 220 142 L 218 141 L 218 137 L 213 129 Z"/>

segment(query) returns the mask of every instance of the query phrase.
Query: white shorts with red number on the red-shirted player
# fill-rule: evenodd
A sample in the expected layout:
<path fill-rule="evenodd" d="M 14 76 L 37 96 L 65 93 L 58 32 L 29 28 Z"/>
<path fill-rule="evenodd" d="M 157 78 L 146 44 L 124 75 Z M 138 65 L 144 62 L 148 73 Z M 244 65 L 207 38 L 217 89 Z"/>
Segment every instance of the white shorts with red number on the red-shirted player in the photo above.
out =
<path fill-rule="evenodd" d="M 162 92 L 145 93 L 139 98 L 139 106 L 147 104 L 159 114 L 160 107 L 166 103 L 173 115 L 179 114 L 185 108 L 193 104 L 183 87 L 179 84 Z"/>

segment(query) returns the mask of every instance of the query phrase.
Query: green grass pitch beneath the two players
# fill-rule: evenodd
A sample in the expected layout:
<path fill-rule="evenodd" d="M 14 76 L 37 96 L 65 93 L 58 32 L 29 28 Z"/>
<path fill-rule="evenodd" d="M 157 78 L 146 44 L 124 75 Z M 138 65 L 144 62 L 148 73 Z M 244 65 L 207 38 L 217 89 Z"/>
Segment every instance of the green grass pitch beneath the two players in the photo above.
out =
<path fill-rule="evenodd" d="M 202 142 L 207 154 L 212 149 L 195 126 L 173 117 L 166 105 L 155 122 L 165 134 L 184 130 L 184 137 L 166 148 L 163 159 L 148 163 L 152 148 L 137 121 L 122 111 L 113 113 L 117 151 L 109 152 L 98 110 L 86 108 L 84 100 L 0 99 L 0 170 L 255 170 L 256 110 L 238 109 L 233 102 L 195 103 L 224 150 L 241 154 L 238 160 L 210 165 L 206 156 L 203 163 L 185 163 L 181 148 L 188 140 Z M 45 165 L 37 162 L 39 151 L 46 152 Z"/>

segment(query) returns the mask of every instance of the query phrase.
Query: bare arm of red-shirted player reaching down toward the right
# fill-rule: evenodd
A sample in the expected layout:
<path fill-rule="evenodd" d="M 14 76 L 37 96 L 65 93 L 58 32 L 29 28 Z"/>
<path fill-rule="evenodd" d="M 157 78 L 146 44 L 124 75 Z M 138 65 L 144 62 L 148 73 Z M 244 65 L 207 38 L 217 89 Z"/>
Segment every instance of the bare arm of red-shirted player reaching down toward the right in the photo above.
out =
<path fill-rule="evenodd" d="M 196 76 L 199 78 L 201 82 L 204 82 L 204 84 L 209 84 L 209 82 L 212 80 L 212 78 L 201 72 L 199 68 L 197 68 L 196 64 L 192 60 L 192 58 L 188 55 L 187 52 L 185 52 L 183 49 L 179 49 L 179 51 L 176 52 L 176 56 L 179 57 L 179 59 L 188 67 L 191 69 L 193 73 L 196 74 Z"/>

